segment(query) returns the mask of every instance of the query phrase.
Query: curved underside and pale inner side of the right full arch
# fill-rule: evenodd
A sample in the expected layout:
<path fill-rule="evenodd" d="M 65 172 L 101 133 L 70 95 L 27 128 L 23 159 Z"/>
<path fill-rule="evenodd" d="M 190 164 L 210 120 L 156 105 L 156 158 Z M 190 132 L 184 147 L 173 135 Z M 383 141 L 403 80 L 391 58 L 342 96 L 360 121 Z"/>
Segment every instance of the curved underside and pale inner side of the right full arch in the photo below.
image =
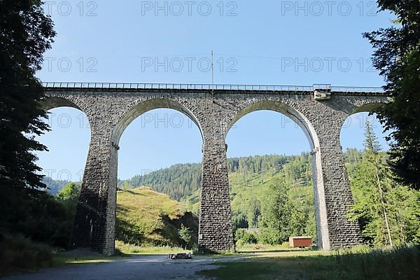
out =
<path fill-rule="evenodd" d="M 312 176 L 314 178 L 314 200 L 315 200 L 315 217 L 316 217 L 316 239 L 319 248 L 330 250 L 330 233 L 328 230 L 327 209 L 325 204 L 325 190 L 323 181 L 323 171 L 321 166 L 321 156 L 319 151 L 320 142 L 315 128 L 311 121 L 304 113 L 301 113 L 293 102 L 283 100 L 267 100 L 267 99 L 251 99 L 245 102 L 239 111 L 235 113 L 233 118 L 227 122 L 225 137 L 228 135 L 230 128 L 235 125 L 237 120 L 246 116 L 248 113 L 255 111 L 276 111 L 282 113 L 286 117 L 293 120 L 300 126 L 309 141 L 312 155 Z"/>

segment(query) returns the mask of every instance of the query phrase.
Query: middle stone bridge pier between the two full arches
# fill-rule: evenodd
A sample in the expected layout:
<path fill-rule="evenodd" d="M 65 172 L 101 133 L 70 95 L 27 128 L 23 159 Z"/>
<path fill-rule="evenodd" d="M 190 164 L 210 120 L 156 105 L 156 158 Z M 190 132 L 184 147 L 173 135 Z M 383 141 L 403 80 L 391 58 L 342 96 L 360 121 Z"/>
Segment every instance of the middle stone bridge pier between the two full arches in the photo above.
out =
<path fill-rule="evenodd" d="M 204 141 L 198 246 L 201 253 L 235 250 L 224 137 Z"/>

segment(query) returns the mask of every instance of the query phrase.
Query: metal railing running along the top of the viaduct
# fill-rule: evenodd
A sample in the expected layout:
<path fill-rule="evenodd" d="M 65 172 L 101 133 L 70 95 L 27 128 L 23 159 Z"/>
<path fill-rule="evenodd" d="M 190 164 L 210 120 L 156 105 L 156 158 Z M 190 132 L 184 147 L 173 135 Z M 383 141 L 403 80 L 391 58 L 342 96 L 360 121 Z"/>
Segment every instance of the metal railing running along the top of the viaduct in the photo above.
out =
<path fill-rule="evenodd" d="M 211 85 L 182 83 L 67 83 L 43 82 L 47 88 L 74 89 L 123 89 L 123 90 L 251 90 L 251 91 L 286 91 L 312 92 L 315 89 L 331 90 L 332 92 L 383 92 L 381 87 L 336 87 L 321 85 Z"/>

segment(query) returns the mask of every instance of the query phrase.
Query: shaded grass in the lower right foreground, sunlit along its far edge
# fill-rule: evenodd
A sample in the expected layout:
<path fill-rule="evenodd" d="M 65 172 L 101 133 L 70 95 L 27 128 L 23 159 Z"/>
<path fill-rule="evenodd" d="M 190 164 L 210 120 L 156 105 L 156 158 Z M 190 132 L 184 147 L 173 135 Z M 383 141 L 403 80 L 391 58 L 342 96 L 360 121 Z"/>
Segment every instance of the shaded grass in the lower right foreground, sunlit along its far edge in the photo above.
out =
<path fill-rule="evenodd" d="M 419 279 L 420 246 L 325 253 L 283 252 L 242 261 L 219 262 L 221 267 L 199 272 L 213 279 Z"/>

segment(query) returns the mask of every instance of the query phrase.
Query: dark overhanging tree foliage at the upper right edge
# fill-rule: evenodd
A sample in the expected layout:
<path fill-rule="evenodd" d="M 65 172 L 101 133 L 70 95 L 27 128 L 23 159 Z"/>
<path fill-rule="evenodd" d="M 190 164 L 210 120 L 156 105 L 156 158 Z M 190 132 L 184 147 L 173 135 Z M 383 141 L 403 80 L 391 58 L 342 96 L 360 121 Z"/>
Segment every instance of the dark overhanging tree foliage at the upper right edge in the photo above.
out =
<path fill-rule="evenodd" d="M 398 25 L 365 33 L 374 47 L 373 64 L 386 80 L 391 102 L 376 113 L 391 132 L 389 164 L 400 182 L 420 189 L 420 2 L 378 0 Z"/>

